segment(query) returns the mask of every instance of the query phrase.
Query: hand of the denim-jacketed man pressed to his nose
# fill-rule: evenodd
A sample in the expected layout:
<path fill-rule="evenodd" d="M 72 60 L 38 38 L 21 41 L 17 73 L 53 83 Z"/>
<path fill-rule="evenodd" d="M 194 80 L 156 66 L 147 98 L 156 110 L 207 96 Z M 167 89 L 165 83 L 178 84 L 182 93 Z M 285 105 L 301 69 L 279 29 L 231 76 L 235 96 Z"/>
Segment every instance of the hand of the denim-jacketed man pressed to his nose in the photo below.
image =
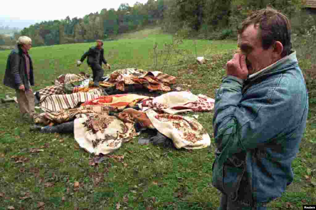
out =
<path fill-rule="evenodd" d="M 235 76 L 239 79 L 247 79 L 248 69 L 246 65 L 246 56 L 236 53 L 234 57 L 226 63 L 227 76 Z"/>

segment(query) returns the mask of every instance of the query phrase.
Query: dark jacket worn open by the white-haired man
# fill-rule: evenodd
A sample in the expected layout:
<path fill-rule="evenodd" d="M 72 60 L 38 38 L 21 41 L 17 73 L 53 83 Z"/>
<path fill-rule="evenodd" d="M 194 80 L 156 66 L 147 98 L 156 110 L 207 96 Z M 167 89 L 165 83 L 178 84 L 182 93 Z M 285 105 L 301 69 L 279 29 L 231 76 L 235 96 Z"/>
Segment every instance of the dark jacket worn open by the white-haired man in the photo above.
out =
<path fill-rule="evenodd" d="M 28 59 L 30 61 L 30 79 L 27 78 L 26 63 L 23 56 L 23 50 L 21 47 L 16 46 L 14 50 L 8 56 L 7 67 L 4 73 L 3 84 L 13 88 L 19 89 L 20 85 L 24 85 L 25 89 L 30 89 L 28 84 L 30 81 L 31 85 L 34 85 L 34 75 L 33 75 L 33 64 L 32 59 L 29 55 Z"/>

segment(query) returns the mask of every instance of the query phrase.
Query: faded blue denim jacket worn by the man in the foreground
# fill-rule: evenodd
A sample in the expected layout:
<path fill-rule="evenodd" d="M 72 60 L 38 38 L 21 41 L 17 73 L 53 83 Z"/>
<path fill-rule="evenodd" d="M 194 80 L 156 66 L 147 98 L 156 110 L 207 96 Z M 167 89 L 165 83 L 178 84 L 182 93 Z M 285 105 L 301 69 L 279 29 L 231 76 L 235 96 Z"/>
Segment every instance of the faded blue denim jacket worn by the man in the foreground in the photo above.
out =
<path fill-rule="evenodd" d="M 252 207 L 280 197 L 293 181 L 291 163 L 307 114 L 307 88 L 295 52 L 246 80 L 222 79 L 213 118 L 213 186 Z"/>

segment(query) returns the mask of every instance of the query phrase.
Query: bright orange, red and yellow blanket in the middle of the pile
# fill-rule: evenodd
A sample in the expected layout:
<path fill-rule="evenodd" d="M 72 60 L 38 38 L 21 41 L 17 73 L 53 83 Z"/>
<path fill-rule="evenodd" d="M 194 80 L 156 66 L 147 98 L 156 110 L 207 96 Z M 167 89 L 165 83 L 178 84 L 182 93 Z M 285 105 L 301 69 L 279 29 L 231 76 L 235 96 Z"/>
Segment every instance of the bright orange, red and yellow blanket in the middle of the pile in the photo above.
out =
<path fill-rule="evenodd" d="M 136 94 L 117 94 L 110 96 L 101 96 L 93 100 L 84 102 L 81 106 L 86 105 L 108 105 L 112 107 L 117 107 L 119 109 L 125 108 L 127 106 L 135 106 L 136 103 L 142 101 L 143 99 L 149 98 L 148 96 L 140 96 Z"/>

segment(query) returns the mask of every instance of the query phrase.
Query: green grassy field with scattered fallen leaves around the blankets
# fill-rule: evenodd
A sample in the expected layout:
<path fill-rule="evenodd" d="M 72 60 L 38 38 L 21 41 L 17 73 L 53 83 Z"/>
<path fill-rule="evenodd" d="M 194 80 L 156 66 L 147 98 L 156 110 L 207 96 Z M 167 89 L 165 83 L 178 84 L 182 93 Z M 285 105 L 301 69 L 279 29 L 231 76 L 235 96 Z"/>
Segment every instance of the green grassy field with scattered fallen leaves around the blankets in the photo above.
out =
<path fill-rule="evenodd" d="M 171 35 L 159 32 L 157 29 L 135 32 L 105 42 L 105 57 L 112 66 L 106 73 L 128 67 L 159 69 L 167 60 L 161 71 L 177 76 L 182 90 L 214 97 L 215 88 L 225 75 L 223 67 L 236 49 L 236 41 L 183 40 L 170 55 L 157 53 L 154 59 L 155 43 L 158 50 L 164 50 L 164 44 L 173 43 Z M 81 67 L 76 67 L 75 62 L 93 45 L 32 48 L 34 90 L 52 85 L 60 74 L 91 73 L 86 62 Z M 0 51 L 1 79 L 8 54 L 9 51 Z M 205 56 L 209 61 L 197 65 L 195 56 Z M 1 98 L 14 94 L 14 90 L 0 85 Z M 29 132 L 29 124 L 18 120 L 15 103 L 0 106 L 3 119 L 0 122 L 0 210 L 197 210 L 216 209 L 219 204 L 220 193 L 211 185 L 213 138 L 209 148 L 194 151 L 139 145 L 136 138 L 107 156 L 104 162 L 90 166 L 93 155 L 80 149 L 73 135 Z M 270 203 L 270 209 L 302 209 L 303 204 L 316 204 L 314 109 L 311 103 L 307 131 L 293 162 L 294 182 L 282 198 Z M 195 114 L 212 136 L 213 113 Z M 32 148 L 43 151 L 30 153 Z"/>

